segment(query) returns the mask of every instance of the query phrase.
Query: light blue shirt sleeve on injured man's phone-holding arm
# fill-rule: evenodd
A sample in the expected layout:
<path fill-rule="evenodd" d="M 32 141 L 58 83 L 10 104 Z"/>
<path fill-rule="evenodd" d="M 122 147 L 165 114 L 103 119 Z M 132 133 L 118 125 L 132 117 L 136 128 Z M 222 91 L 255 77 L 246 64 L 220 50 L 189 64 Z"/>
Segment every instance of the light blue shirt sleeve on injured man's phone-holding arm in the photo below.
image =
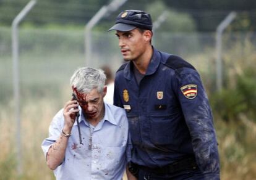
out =
<path fill-rule="evenodd" d="M 51 145 L 59 138 L 60 134 L 61 134 L 61 130 L 62 130 L 62 110 L 60 110 L 53 118 L 53 120 L 51 121 L 51 125 L 49 126 L 49 136 L 43 140 L 42 144 L 41 144 L 41 148 L 43 149 L 43 153 L 46 154 L 49 150 L 49 148 L 51 147 Z"/>

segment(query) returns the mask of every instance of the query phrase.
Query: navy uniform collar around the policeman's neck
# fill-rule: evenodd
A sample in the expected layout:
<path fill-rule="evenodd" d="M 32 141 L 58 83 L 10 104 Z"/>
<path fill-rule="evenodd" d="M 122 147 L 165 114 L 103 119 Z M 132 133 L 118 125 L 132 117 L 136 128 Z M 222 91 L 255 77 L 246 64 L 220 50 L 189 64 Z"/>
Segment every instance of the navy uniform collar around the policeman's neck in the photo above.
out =
<path fill-rule="evenodd" d="M 151 57 L 150 63 L 148 64 L 146 76 L 152 75 L 153 73 L 155 73 L 160 64 L 160 57 L 161 57 L 160 52 L 157 51 L 153 46 L 152 46 L 152 48 L 153 48 L 153 55 Z M 124 77 L 128 80 L 132 79 L 133 66 L 134 66 L 133 62 L 132 62 L 132 60 L 130 60 L 130 62 L 124 68 Z"/>

